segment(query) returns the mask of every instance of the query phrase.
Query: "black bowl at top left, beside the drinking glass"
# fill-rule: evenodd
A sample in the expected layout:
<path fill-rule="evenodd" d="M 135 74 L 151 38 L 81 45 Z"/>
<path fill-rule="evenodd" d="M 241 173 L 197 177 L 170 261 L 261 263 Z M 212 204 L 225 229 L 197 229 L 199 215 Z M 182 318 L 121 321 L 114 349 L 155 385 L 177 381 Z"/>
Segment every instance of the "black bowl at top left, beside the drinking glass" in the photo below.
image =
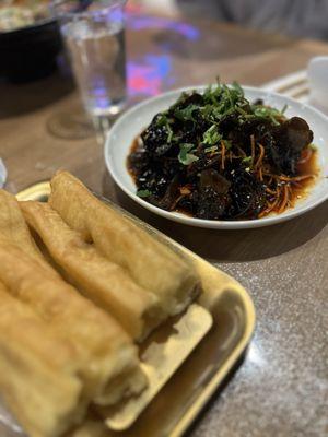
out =
<path fill-rule="evenodd" d="M 0 75 L 16 83 L 45 78 L 56 70 L 61 48 L 59 25 L 54 19 L 0 32 Z"/>

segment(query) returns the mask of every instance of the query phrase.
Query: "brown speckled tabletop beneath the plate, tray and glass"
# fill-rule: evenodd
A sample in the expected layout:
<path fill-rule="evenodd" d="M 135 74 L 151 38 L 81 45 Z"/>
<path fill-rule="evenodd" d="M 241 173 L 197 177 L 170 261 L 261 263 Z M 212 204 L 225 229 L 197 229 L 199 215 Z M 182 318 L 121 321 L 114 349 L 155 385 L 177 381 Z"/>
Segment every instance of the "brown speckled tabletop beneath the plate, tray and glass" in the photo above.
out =
<path fill-rule="evenodd" d="M 131 102 L 183 85 L 261 85 L 305 68 L 328 44 L 214 22 L 129 14 Z M 12 192 L 66 168 L 250 293 L 257 326 L 246 357 L 190 429 L 192 437 L 319 437 L 328 411 L 328 202 L 291 222 L 249 231 L 192 228 L 133 204 L 105 170 L 103 145 L 63 70 L 28 85 L 0 83 L 0 156 Z"/>

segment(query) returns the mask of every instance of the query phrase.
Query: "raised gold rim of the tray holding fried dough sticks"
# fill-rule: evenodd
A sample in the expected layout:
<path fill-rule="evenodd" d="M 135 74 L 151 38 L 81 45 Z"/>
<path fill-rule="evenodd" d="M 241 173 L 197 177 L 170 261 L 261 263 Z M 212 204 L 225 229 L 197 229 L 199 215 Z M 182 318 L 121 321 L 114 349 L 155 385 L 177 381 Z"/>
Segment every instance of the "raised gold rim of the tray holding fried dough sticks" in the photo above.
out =
<path fill-rule="evenodd" d="M 21 200 L 21 201 L 37 200 L 42 196 L 47 196 L 49 193 L 50 193 L 50 182 L 42 181 L 42 182 L 37 182 L 35 185 L 32 185 L 31 187 L 27 187 L 26 189 L 20 191 L 16 194 L 16 198 L 17 198 L 17 200 Z M 187 249 L 179 243 L 175 241 L 173 238 L 168 237 L 161 231 L 149 225 L 147 222 L 143 222 L 142 220 L 134 216 L 130 212 L 124 210 L 120 205 L 115 204 L 114 202 L 104 198 L 103 196 L 99 197 L 99 199 L 102 201 L 104 201 L 105 203 L 114 206 L 116 210 L 121 212 L 125 216 L 132 220 L 138 225 L 150 231 L 151 233 L 154 233 L 155 235 L 160 235 L 161 238 L 166 240 L 169 245 L 176 247 L 178 250 L 180 250 L 183 253 L 185 253 L 185 256 L 187 256 L 188 258 L 191 258 L 196 262 L 206 263 L 208 268 L 218 270 L 220 272 L 220 274 L 222 274 L 223 277 L 225 277 L 229 281 L 229 283 L 231 283 L 234 286 L 235 291 L 237 291 L 237 293 L 242 299 L 242 303 L 244 305 L 246 322 L 245 322 L 245 330 L 243 332 L 241 340 L 234 346 L 234 349 L 229 354 L 229 356 L 224 359 L 223 364 L 215 371 L 213 377 L 202 388 L 198 398 L 183 413 L 183 415 L 179 417 L 179 420 L 174 425 L 174 428 L 169 432 L 169 435 L 168 435 L 169 437 L 181 437 L 187 432 L 187 429 L 191 426 L 191 424 L 196 421 L 196 418 L 201 413 L 201 411 L 204 409 L 204 406 L 210 401 L 212 395 L 219 389 L 219 386 L 224 381 L 225 377 L 233 369 L 234 365 L 236 365 L 236 363 L 238 362 L 238 359 L 245 352 L 248 343 L 250 342 L 251 336 L 255 331 L 255 324 L 256 324 L 256 314 L 255 314 L 254 302 L 253 302 L 249 293 L 246 291 L 246 288 L 244 288 L 244 286 L 238 281 L 236 281 L 234 277 L 232 277 L 227 273 L 223 272 L 222 270 L 220 270 L 219 268 L 216 268 L 215 265 L 213 265 L 206 259 L 201 258 L 197 253 Z"/>

